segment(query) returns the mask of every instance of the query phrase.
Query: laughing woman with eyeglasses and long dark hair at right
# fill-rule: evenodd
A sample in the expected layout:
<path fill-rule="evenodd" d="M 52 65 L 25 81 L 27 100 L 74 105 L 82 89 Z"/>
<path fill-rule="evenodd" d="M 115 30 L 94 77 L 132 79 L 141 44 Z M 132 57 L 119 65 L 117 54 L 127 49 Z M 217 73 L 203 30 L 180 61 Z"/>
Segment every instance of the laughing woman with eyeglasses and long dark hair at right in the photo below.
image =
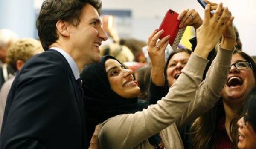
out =
<path fill-rule="evenodd" d="M 236 123 L 242 117 L 243 102 L 255 87 L 255 80 L 254 60 L 244 52 L 235 51 L 219 103 L 192 124 L 195 149 L 237 149 Z"/>

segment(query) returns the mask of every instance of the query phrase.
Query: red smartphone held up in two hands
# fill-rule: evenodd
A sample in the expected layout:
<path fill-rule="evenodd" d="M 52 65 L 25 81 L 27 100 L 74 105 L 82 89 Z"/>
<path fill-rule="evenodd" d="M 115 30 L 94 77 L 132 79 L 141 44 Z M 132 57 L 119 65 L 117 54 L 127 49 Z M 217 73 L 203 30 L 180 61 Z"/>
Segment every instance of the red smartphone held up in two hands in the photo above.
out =
<path fill-rule="evenodd" d="M 166 12 L 166 15 L 163 18 L 163 21 L 159 27 L 159 30 L 163 29 L 163 34 L 160 36 L 159 39 L 162 39 L 163 37 L 166 37 L 167 35 L 170 35 L 169 44 L 172 46 L 180 28 L 180 21 L 177 20 L 178 13 L 169 9 Z"/>

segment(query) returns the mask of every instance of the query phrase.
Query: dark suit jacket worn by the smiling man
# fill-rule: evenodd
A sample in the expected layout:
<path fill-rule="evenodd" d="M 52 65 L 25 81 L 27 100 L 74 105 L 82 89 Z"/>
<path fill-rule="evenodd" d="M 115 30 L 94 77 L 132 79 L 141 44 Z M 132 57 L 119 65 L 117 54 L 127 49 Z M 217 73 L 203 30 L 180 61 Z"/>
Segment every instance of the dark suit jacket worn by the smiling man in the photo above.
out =
<path fill-rule="evenodd" d="M 86 149 L 81 92 L 67 60 L 49 50 L 32 57 L 9 92 L 1 149 Z"/>

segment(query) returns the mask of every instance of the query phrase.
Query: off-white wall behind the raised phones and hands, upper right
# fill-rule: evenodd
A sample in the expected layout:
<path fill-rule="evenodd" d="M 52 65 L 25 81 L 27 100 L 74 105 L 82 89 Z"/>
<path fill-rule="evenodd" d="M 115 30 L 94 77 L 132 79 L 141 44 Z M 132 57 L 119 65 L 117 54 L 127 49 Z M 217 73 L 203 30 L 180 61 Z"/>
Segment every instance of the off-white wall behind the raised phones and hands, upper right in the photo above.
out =
<path fill-rule="evenodd" d="M 243 50 L 256 55 L 256 0 L 214 0 L 223 2 L 235 16 L 234 24 L 239 30 Z M 147 40 L 151 32 L 158 28 L 168 9 L 181 12 L 192 8 L 204 17 L 204 10 L 197 0 L 102 0 L 103 9 L 130 9 L 133 12 L 133 37 Z"/>

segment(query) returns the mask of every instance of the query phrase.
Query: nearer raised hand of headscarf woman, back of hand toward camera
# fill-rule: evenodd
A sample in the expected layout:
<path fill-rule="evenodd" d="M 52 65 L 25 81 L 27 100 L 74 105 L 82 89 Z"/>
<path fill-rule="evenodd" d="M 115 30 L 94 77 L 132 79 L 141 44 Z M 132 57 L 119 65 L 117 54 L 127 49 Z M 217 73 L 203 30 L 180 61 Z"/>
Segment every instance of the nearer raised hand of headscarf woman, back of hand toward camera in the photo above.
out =
<path fill-rule="evenodd" d="M 220 3 L 214 14 L 210 14 L 210 5 L 207 4 L 204 9 L 204 21 L 202 26 L 197 29 L 197 46 L 195 54 L 207 58 L 209 52 L 218 43 L 222 33 L 229 26 L 233 17 L 231 17 L 227 8 Z"/>

